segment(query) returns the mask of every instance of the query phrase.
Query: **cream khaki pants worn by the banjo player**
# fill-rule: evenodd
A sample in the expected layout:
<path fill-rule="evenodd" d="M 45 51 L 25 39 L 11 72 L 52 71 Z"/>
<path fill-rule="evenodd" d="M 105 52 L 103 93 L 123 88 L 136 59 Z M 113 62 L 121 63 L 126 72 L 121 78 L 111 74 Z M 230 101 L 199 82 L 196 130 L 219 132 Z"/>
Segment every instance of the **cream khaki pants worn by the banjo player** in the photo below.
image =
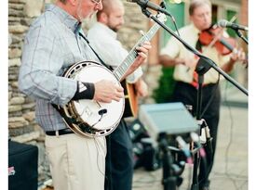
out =
<path fill-rule="evenodd" d="M 74 133 L 47 135 L 46 151 L 54 190 L 104 189 L 104 137 L 86 138 Z"/>

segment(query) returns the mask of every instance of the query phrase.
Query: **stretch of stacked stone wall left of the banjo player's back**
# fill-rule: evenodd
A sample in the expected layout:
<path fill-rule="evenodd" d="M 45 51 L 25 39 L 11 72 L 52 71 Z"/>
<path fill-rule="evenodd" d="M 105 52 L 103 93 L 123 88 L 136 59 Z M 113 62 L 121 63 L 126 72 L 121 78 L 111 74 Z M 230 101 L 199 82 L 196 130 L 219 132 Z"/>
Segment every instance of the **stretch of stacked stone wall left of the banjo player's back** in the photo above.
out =
<path fill-rule="evenodd" d="M 24 35 L 43 11 L 44 4 L 44 0 L 8 2 L 8 133 L 13 141 L 38 146 L 39 182 L 49 178 L 44 133 L 34 121 L 34 100 L 20 93 L 17 81 Z"/>

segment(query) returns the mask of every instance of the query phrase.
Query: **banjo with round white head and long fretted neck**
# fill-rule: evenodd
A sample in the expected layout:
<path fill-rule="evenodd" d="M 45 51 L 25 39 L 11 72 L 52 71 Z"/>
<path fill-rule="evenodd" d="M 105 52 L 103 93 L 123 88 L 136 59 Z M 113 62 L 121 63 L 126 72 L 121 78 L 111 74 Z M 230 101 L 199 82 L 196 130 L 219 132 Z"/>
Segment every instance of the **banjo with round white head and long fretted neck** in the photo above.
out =
<path fill-rule="evenodd" d="M 158 18 L 162 22 L 166 20 L 163 14 L 158 14 Z M 160 26 L 155 23 L 114 71 L 108 70 L 94 61 L 80 61 L 74 63 L 62 76 L 80 82 L 95 83 L 101 80 L 110 80 L 121 86 L 120 80 L 138 56 L 136 47 L 145 41 L 150 41 L 159 28 Z M 87 137 L 105 136 L 114 132 L 118 126 L 124 113 L 125 97 L 118 102 L 113 100 L 111 103 L 88 99 L 72 100 L 63 108 L 57 105 L 54 107 L 59 110 L 62 119 L 74 133 Z"/>

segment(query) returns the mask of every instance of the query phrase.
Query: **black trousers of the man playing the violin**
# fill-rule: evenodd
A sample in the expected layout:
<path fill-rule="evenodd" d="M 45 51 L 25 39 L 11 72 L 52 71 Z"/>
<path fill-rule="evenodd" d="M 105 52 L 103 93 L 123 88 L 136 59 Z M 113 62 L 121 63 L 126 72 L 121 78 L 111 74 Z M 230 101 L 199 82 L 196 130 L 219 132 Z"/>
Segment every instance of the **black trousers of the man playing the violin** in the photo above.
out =
<path fill-rule="evenodd" d="M 213 99 L 209 103 L 209 100 L 212 95 L 214 95 Z M 193 112 L 195 115 L 196 98 L 197 98 L 197 90 L 195 89 L 194 86 L 185 82 L 177 82 L 174 87 L 174 93 L 171 98 L 171 102 L 182 102 L 184 105 L 192 105 Z M 209 107 L 207 108 L 207 110 L 205 111 L 205 113 L 202 115 L 201 118 L 206 120 L 209 126 L 210 135 L 213 138 L 212 139 L 213 154 L 211 156 L 207 155 L 207 159 L 209 161 L 207 164 L 207 168 L 205 168 L 202 162 L 200 164 L 199 177 L 198 177 L 199 187 L 209 184 L 209 173 L 213 166 L 213 159 L 214 159 L 215 150 L 216 150 L 218 124 L 219 124 L 219 118 L 220 118 L 220 106 L 221 106 L 221 93 L 220 93 L 220 88 L 218 84 L 209 84 L 209 85 L 203 86 L 201 111 L 204 111 L 204 109 L 207 107 L 208 104 L 209 104 Z"/>

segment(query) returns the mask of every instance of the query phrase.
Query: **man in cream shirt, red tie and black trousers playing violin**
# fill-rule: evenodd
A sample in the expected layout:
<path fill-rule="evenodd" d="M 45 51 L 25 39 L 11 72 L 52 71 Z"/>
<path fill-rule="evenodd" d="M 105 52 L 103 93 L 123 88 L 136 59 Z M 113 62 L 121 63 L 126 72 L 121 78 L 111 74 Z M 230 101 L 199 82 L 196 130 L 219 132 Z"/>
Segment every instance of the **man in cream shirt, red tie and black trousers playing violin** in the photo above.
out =
<path fill-rule="evenodd" d="M 204 46 L 198 39 L 199 33 L 211 26 L 211 3 L 209 0 L 192 0 L 189 6 L 191 24 L 181 30 L 182 39 L 195 47 L 204 56 L 212 59 L 222 70 L 233 70 L 237 60 L 242 60 L 245 54 L 235 49 L 231 54 L 223 56 L 215 46 Z M 225 33 L 227 34 L 227 33 Z M 168 44 L 161 49 L 160 63 L 165 67 L 175 67 L 174 80 L 176 81 L 170 102 L 182 102 L 184 105 L 192 105 L 196 110 L 197 77 L 195 66 L 198 61 L 192 52 L 188 51 L 175 38 L 170 38 Z M 210 69 L 204 75 L 202 87 L 202 119 L 208 123 L 212 140 L 212 155 L 207 155 L 209 163 L 207 167 L 200 165 L 198 186 L 199 190 L 209 190 L 209 173 L 212 169 L 217 142 L 218 123 L 220 118 L 221 93 L 219 88 L 219 73 Z M 205 109 L 205 110 L 204 110 Z"/>

